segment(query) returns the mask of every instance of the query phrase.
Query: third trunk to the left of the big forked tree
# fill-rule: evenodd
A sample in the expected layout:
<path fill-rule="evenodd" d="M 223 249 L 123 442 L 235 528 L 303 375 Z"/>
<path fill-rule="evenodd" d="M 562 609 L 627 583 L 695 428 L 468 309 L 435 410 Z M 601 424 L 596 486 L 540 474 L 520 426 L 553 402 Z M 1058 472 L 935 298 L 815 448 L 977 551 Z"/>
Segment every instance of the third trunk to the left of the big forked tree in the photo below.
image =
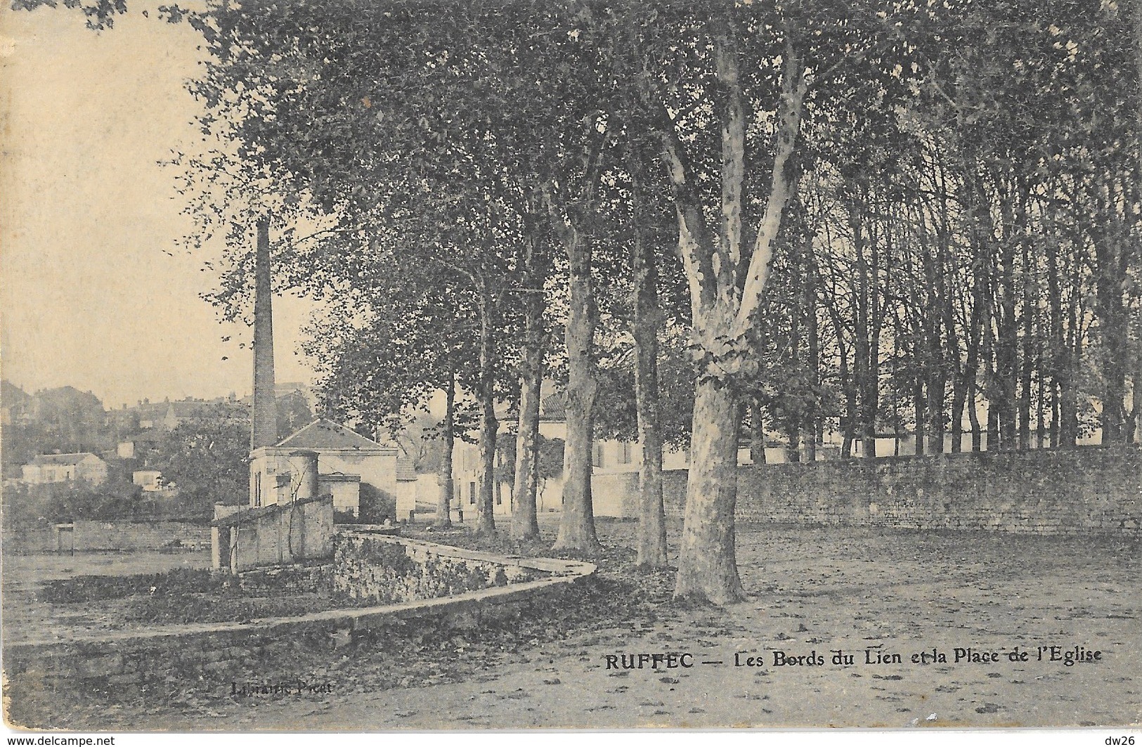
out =
<path fill-rule="evenodd" d="M 530 323 L 531 320 L 528 320 Z M 540 320 L 542 323 L 542 320 Z M 521 351 L 520 421 L 515 436 L 515 484 L 512 488 L 512 538 L 539 537 L 536 493 L 539 491 L 539 404 L 542 394 L 542 351 Z"/>

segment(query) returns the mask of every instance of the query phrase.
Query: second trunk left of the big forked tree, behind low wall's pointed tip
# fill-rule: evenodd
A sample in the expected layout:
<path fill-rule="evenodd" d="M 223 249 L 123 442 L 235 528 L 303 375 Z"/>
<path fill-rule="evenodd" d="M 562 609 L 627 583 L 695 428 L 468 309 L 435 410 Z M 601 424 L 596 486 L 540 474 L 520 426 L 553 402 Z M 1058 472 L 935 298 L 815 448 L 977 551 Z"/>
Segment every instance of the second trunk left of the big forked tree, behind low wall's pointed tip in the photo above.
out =
<path fill-rule="evenodd" d="M 595 514 L 592 506 L 592 447 L 595 439 L 595 381 L 592 351 L 598 312 L 590 281 L 590 244 L 578 235 L 564 238 L 568 251 L 570 303 L 565 339 L 568 350 L 566 479 L 563 482 L 563 519 L 555 549 L 595 552 Z"/>

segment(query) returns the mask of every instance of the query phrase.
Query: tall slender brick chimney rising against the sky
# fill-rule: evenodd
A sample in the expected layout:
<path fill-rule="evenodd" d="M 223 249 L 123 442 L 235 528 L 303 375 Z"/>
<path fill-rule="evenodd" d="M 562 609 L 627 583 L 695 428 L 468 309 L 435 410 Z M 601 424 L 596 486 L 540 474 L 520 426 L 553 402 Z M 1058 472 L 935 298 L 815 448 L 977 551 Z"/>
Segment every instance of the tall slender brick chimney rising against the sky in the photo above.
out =
<path fill-rule="evenodd" d="M 270 218 L 258 219 L 254 265 L 254 411 L 250 451 L 278 443 L 278 402 L 274 396 L 274 319 L 270 283 Z"/>

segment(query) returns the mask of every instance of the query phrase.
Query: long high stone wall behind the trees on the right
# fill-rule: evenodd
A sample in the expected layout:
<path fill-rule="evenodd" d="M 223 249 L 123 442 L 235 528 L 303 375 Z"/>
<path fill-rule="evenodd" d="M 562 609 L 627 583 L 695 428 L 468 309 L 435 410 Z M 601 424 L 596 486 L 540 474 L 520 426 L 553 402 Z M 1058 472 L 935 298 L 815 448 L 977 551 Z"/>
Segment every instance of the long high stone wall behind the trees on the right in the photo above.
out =
<path fill-rule="evenodd" d="M 686 472 L 665 476 L 682 515 Z M 1040 535 L 1142 533 L 1137 448 L 761 465 L 738 471 L 742 521 Z"/>

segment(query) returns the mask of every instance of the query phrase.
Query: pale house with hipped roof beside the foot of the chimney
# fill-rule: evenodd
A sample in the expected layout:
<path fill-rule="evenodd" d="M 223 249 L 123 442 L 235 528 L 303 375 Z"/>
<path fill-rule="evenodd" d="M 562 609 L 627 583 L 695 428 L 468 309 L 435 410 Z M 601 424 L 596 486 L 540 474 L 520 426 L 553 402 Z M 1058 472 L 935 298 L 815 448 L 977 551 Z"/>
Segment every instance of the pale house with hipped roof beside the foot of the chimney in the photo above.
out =
<path fill-rule="evenodd" d="M 368 485 L 395 498 L 396 516 L 408 517 L 416 509 L 416 490 L 402 488 L 409 481 L 399 480 L 397 458 L 395 447 L 317 419 L 250 452 L 250 507 L 291 503 L 300 485 L 315 481 L 317 495 L 331 495 L 337 512 L 360 515 L 362 488 Z M 306 474 L 309 471 L 314 474 Z"/>

